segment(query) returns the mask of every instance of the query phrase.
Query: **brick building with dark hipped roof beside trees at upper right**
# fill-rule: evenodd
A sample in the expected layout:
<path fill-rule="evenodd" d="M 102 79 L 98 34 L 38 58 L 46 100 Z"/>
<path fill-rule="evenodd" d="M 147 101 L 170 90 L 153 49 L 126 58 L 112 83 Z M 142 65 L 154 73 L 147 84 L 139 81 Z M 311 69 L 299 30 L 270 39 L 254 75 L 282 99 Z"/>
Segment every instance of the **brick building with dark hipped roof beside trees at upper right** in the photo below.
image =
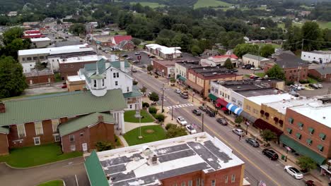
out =
<path fill-rule="evenodd" d="M 291 51 L 281 51 L 281 54 L 274 54 L 273 61 L 265 63 L 265 73 L 277 64 L 284 70 L 286 80 L 299 81 L 308 78 L 308 63 L 298 58 Z"/>

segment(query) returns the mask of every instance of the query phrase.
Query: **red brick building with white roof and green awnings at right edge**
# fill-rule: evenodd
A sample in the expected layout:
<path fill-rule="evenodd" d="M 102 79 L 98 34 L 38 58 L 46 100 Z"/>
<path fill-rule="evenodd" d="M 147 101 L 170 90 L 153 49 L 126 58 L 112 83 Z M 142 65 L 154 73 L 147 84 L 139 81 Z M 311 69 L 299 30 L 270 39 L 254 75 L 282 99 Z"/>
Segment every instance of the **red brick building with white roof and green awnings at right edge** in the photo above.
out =
<path fill-rule="evenodd" d="M 330 96 L 286 109 L 280 141 L 296 153 L 309 156 L 319 165 L 331 158 Z"/>

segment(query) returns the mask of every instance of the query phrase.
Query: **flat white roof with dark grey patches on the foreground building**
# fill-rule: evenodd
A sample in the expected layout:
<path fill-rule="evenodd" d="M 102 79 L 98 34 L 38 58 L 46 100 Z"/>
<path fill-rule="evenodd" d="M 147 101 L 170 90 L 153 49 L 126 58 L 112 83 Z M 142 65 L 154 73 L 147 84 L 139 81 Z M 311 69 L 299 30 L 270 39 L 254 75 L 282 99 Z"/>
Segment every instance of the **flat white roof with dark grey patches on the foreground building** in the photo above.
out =
<path fill-rule="evenodd" d="M 157 157 L 156 163 L 151 161 Z M 98 152 L 98 158 L 112 186 L 151 185 L 159 180 L 204 171 L 211 173 L 239 166 L 232 149 L 207 132 Z"/>

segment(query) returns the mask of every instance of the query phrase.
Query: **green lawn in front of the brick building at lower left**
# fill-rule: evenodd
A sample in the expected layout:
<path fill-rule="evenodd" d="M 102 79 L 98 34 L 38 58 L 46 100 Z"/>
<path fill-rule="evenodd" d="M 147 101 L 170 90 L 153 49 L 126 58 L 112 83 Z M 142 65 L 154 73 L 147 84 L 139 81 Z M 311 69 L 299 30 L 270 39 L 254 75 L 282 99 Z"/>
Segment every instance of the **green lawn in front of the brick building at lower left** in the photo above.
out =
<path fill-rule="evenodd" d="M 8 156 L 0 156 L 0 162 L 6 161 L 9 166 L 16 168 L 27 168 L 64 159 L 71 159 L 78 156 L 82 156 L 82 153 L 71 152 L 62 154 L 61 146 L 59 144 L 43 144 L 33 147 L 12 149 Z"/>

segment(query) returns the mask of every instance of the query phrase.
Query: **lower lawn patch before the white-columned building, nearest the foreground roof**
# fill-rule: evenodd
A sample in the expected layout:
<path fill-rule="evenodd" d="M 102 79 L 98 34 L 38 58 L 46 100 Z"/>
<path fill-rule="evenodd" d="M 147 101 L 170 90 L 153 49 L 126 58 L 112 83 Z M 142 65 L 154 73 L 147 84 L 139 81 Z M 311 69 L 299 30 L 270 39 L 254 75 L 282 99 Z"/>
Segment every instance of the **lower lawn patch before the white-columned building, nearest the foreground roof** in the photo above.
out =
<path fill-rule="evenodd" d="M 144 144 L 165 139 L 165 130 L 160 125 L 149 125 L 141 127 L 142 139 L 139 139 L 139 128 L 125 133 L 124 138 L 129 146 L 135 144 Z"/>

